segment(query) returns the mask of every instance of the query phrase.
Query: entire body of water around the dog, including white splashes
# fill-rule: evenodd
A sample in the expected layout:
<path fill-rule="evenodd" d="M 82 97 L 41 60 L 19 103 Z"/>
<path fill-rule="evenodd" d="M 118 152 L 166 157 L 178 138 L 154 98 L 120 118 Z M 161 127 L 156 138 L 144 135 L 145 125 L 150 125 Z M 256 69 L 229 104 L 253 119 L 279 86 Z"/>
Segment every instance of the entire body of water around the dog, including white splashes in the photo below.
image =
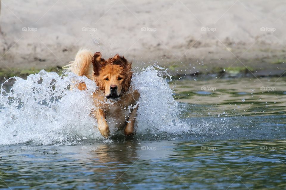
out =
<path fill-rule="evenodd" d="M 4 83 L 0 188 L 285 189 L 285 77 L 161 74 L 133 77 L 137 135 L 109 140 L 88 115 L 95 86 L 85 77 L 40 72 Z M 91 90 L 69 91 L 76 80 Z"/>

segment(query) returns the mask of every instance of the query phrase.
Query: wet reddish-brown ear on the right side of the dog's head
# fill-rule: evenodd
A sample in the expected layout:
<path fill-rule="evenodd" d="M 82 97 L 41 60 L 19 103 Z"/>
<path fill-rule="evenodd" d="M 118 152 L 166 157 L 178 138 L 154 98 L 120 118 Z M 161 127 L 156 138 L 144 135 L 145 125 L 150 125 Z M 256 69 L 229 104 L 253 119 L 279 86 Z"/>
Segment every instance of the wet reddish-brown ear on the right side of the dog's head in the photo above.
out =
<path fill-rule="evenodd" d="M 109 58 L 111 64 L 115 65 L 120 65 L 124 68 L 124 74 L 125 74 L 125 79 L 122 83 L 122 91 L 128 91 L 131 83 L 131 78 L 133 72 L 131 71 L 132 69 L 132 64 L 126 60 L 124 57 L 119 56 L 116 54 L 113 58 Z"/>

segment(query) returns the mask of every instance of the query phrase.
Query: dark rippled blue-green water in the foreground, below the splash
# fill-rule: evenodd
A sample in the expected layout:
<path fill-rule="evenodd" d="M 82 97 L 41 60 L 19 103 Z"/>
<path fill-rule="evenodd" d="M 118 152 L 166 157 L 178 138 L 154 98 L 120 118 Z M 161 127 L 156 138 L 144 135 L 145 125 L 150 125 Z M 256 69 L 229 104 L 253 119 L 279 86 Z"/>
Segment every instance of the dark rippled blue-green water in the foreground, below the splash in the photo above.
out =
<path fill-rule="evenodd" d="M 14 145 L 1 147 L 0 188 L 284 189 L 285 145 L 284 140 Z"/>

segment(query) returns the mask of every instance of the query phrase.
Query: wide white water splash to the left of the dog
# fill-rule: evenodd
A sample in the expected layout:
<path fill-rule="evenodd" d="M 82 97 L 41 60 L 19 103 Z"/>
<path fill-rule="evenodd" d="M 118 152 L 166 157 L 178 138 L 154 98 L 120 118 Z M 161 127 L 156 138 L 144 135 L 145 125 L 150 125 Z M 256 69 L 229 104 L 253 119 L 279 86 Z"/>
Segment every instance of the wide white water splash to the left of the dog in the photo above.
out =
<path fill-rule="evenodd" d="M 13 79 L 9 92 L 1 88 L 0 144 L 73 144 L 99 136 L 93 127 L 96 121 L 89 116 L 90 94 L 96 88 L 91 80 L 44 70 L 29 75 L 27 80 Z M 69 85 L 80 80 L 90 89 L 69 91 Z"/>

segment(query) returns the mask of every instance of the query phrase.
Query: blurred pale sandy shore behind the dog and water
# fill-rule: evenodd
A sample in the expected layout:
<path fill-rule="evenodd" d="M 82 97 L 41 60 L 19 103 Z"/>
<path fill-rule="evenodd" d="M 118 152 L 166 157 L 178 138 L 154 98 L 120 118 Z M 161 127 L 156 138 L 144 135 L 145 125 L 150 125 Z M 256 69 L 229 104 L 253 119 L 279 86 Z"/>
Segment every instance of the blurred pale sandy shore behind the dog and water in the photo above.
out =
<path fill-rule="evenodd" d="M 172 72 L 285 69 L 286 2 L 1 0 L 1 69 L 49 68 L 80 47 Z"/>

